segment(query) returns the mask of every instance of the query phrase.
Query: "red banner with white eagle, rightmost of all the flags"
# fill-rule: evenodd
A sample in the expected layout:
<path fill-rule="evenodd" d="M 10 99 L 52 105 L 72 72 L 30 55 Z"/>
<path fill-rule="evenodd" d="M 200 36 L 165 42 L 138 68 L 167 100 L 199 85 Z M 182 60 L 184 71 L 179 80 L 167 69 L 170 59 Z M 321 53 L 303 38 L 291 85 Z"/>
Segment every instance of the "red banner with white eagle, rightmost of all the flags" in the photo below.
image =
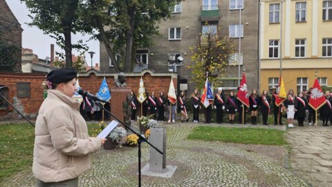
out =
<path fill-rule="evenodd" d="M 315 83 L 313 83 L 313 91 L 310 94 L 309 105 L 314 109 L 320 109 L 326 103 L 326 99 L 324 97 L 322 88 L 320 87 L 320 82 L 318 82 L 317 78 L 315 79 Z"/>

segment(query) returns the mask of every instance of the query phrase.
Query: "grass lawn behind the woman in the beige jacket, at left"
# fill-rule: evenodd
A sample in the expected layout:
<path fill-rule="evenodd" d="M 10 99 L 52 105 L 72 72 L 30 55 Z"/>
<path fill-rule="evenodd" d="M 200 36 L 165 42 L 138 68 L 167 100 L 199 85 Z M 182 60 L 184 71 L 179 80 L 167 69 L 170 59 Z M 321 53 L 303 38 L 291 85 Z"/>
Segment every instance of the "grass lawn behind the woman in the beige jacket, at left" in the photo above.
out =
<path fill-rule="evenodd" d="M 98 124 L 89 124 L 89 134 Z M 29 123 L 0 125 L 0 181 L 33 166 L 35 128 Z"/>

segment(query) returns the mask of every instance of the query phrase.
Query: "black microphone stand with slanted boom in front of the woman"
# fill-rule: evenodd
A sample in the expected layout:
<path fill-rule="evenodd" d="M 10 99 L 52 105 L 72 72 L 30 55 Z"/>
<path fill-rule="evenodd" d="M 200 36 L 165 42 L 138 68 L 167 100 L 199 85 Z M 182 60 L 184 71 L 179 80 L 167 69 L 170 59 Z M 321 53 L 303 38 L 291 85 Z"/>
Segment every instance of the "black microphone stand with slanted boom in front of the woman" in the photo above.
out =
<path fill-rule="evenodd" d="M 94 100 L 93 103 L 97 104 L 101 109 L 103 109 L 105 112 L 107 112 L 113 118 L 116 118 L 116 120 L 119 123 L 121 123 L 122 125 L 124 125 L 125 127 L 127 127 L 129 130 L 131 130 L 131 132 L 133 132 L 134 134 L 136 134 L 138 136 L 138 186 L 140 187 L 140 185 L 141 185 L 141 182 L 140 182 L 141 181 L 141 179 L 140 179 L 140 157 L 141 157 L 140 144 L 142 143 L 142 141 L 143 142 L 145 141 L 147 144 L 149 144 L 152 148 L 154 148 L 160 154 L 163 154 L 163 152 L 160 151 L 158 148 L 156 148 L 151 143 L 149 143 L 149 141 L 147 141 L 147 139 L 145 139 L 145 137 L 143 137 L 142 135 L 140 135 L 137 132 L 135 132 L 133 129 L 131 129 L 131 127 L 129 127 L 128 125 L 126 125 L 125 123 L 123 123 L 122 121 L 120 121 L 119 118 L 117 118 L 116 116 L 114 116 L 113 114 L 111 114 L 111 112 L 109 112 L 107 109 L 105 109 L 104 107 L 102 107 L 102 105 L 100 104 L 99 101 L 95 101 Z"/>

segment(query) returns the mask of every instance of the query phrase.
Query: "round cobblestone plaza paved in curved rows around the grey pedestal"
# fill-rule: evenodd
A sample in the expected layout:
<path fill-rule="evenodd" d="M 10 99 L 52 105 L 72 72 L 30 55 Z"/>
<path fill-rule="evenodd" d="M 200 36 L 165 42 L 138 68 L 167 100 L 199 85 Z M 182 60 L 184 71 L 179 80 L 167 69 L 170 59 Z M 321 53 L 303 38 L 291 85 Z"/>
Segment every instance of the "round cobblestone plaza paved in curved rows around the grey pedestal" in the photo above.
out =
<path fill-rule="evenodd" d="M 142 176 L 142 186 L 310 186 L 264 154 L 230 143 L 187 140 L 192 125 L 165 127 L 167 165 L 178 168 L 170 179 Z M 93 154 L 93 168 L 80 176 L 80 186 L 137 186 L 137 154 L 136 147 L 127 146 Z M 143 143 L 142 166 L 148 159 Z M 35 178 L 28 170 L 0 186 L 35 186 Z"/>

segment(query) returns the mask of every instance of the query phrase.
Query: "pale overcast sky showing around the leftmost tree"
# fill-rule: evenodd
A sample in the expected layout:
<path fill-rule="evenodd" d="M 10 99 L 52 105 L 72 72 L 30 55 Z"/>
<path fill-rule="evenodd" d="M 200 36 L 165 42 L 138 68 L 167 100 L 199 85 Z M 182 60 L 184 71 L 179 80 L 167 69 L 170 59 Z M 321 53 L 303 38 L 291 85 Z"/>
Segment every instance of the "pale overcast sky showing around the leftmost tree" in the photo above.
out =
<path fill-rule="evenodd" d="M 24 29 L 22 33 L 22 47 L 33 49 L 33 53 L 38 55 L 40 59 L 45 59 L 50 57 L 50 44 L 55 44 L 55 39 L 44 35 L 42 30 L 37 27 L 29 27 L 26 23 L 30 23 L 31 19 L 28 17 L 29 10 L 26 8 L 25 3 L 21 3 L 19 0 L 6 0 L 10 10 L 14 13 L 17 20 L 21 24 L 21 27 Z M 85 42 L 89 39 L 89 36 L 82 35 L 72 35 L 72 43 L 77 42 L 78 40 L 83 39 Z M 93 66 L 96 62 L 99 62 L 99 41 L 93 40 L 86 42 L 89 46 L 89 51 L 95 52 L 93 55 Z M 59 48 L 55 44 L 55 51 L 64 53 L 64 50 Z M 72 51 L 73 54 L 79 55 L 77 51 Z M 88 64 L 91 64 L 91 57 L 89 53 L 86 53 L 86 61 Z"/>

